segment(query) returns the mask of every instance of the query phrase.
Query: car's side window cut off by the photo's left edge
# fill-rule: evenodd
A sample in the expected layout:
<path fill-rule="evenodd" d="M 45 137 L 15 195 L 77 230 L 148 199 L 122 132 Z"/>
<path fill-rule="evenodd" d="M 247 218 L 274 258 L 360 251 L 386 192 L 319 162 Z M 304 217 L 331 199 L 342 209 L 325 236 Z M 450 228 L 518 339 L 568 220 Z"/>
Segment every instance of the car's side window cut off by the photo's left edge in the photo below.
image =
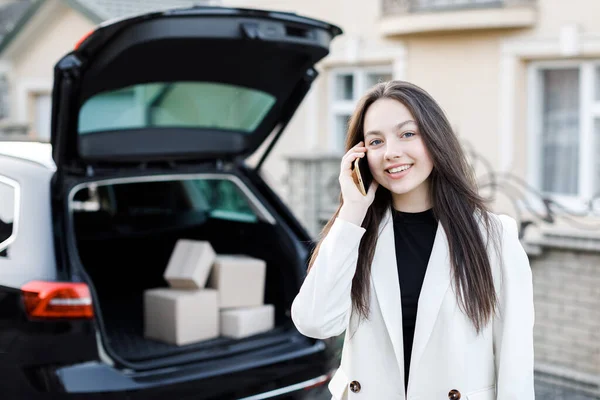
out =
<path fill-rule="evenodd" d="M 8 246 L 17 233 L 19 184 L 0 176 L 0 257 L 6 257 Z"/>

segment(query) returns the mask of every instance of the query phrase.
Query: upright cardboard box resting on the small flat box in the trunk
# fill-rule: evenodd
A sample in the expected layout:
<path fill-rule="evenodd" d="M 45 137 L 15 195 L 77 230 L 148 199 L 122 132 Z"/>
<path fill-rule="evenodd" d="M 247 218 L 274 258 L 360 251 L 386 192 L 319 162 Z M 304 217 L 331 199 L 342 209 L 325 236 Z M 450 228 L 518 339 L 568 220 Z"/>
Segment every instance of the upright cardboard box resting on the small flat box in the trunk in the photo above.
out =
<path fill-rule="evenodd" d="M 245 255 L 217 255 L 208 287 L 219 291 L 219 307 L 264 304 L 267 264 Z"/>

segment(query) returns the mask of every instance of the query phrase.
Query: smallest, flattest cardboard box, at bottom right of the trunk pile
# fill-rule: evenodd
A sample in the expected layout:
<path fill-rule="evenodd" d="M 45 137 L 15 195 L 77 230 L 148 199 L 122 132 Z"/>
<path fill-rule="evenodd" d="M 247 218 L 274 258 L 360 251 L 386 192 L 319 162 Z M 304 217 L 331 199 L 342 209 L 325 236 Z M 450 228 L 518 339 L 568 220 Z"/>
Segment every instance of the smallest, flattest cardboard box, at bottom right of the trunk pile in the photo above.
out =
<path fill-rule="evenodd" d="M 272 304 L 221 310 L 221 336 L 241 339 L 274 327 L 275 307 Z"/>

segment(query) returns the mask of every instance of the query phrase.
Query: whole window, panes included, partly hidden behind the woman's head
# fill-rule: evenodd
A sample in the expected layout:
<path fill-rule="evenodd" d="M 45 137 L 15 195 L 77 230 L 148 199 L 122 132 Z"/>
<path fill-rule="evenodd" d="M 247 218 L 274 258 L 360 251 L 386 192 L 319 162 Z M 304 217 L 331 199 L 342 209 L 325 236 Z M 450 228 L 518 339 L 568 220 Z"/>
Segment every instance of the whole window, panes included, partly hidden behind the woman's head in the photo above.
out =
<path fill-rule="evenodd" d="M 392 79 L 392 67 L 344 68 L 331 71 L 330 148 L 343 151 L 348 120 L 358 99 L 378 82 Z"/>

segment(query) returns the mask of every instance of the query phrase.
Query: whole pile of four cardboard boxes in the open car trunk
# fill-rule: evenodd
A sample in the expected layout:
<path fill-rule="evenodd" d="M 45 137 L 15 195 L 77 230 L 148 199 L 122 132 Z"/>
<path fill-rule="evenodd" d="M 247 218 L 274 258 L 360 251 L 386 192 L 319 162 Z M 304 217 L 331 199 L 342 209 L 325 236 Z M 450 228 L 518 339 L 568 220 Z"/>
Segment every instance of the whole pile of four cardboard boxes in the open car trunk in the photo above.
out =
<path fill-rule="evenodd" d="M 264 304 L 266 263 L 245 255 L 217 255 L 209 242 L 181 239 L 164 278 L 168 288 L 144 294 L 147 338 L 184 345 L 240 339 L 273 329 L 275 309 Z"/>

